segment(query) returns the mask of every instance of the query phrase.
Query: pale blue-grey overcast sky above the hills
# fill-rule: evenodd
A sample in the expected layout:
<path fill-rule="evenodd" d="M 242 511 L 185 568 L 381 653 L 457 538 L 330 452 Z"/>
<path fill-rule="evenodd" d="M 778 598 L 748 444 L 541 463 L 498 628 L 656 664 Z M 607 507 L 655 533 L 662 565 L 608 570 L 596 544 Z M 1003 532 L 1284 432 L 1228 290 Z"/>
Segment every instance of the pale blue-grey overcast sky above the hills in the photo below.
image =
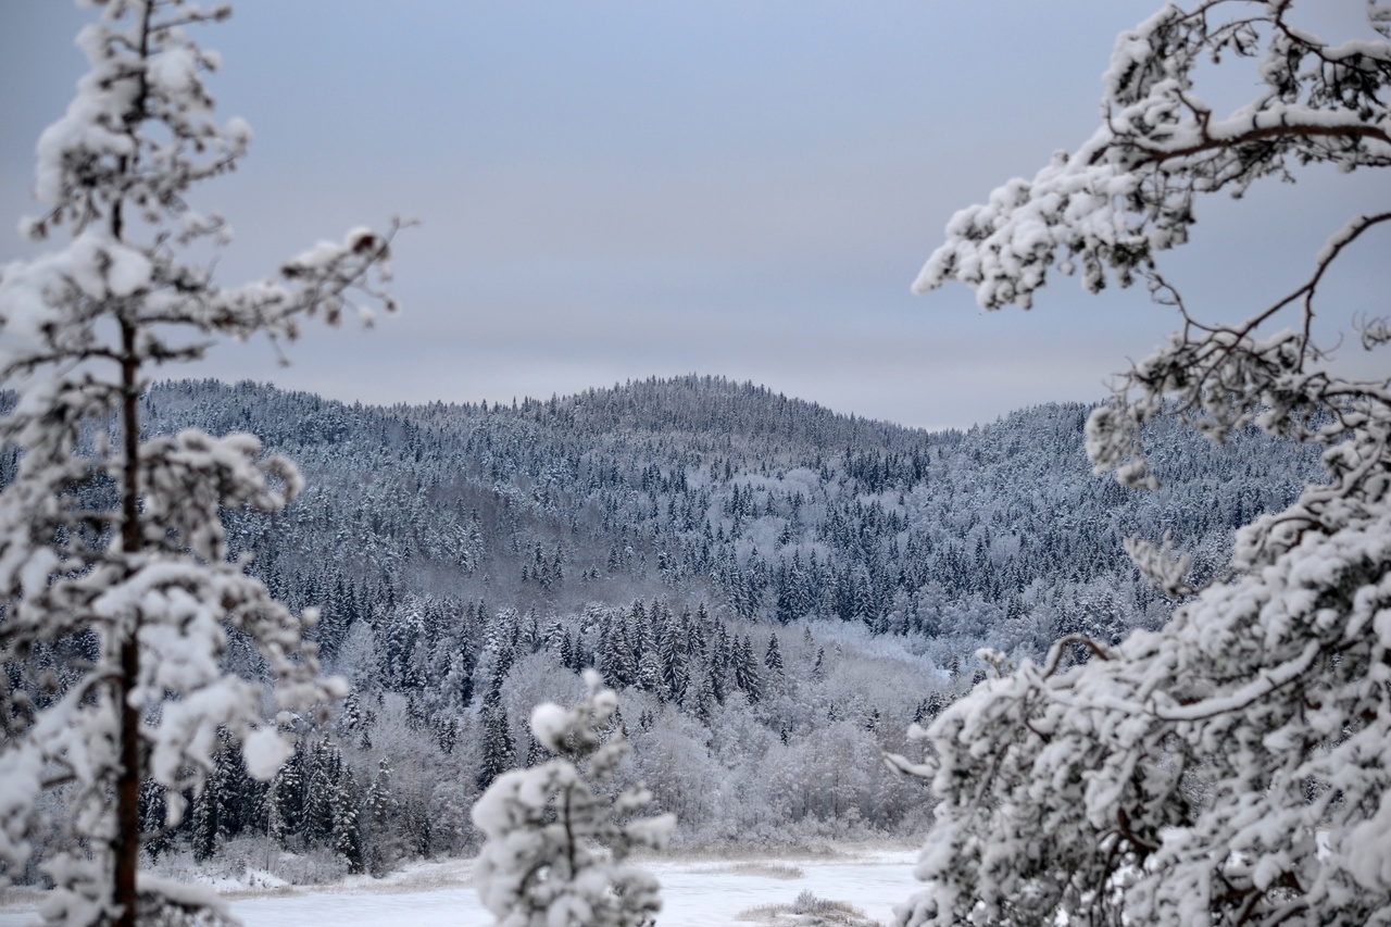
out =
<path fill-rule="evenodd" d="M 1056 278 L 1025 313 L 908 287 L 951 213 L 1092 132 L 1116 35 L 1159 0 L 242 0 L 199 28 L 250 154 L 192 196 L 246 283 L 355 225 L 395 246 L 403 313 L 310 327 L 281 366 L 227 345 L 170 376 L 255 379 L 370 404 L 548 398 L 648 376 L 753 380 L 837 412 L 964 427 L 1093 401 L 1174 327 L 1143 292 Z M 1362 0 L 1309 25 L 1374 38 Z M 0 1 L 0 262 L 33 143 L 83 72 L 93 14 Z M 1212 70 L 1237 106 L 1251 74 Z M 1384 177 L 1312 171 L 1205 202 L 1164 262 L 1189 306 L 1242 317 L 1302 283 L 1324 239 L 1385 209 Z M 1328 281 L 1328 340 L 1384 315 L 1391 235 Z M 1345 337 L 1348 342 L 1351 335 Z M 1342 363 L 1384 358 L 1342 348 Z"/>

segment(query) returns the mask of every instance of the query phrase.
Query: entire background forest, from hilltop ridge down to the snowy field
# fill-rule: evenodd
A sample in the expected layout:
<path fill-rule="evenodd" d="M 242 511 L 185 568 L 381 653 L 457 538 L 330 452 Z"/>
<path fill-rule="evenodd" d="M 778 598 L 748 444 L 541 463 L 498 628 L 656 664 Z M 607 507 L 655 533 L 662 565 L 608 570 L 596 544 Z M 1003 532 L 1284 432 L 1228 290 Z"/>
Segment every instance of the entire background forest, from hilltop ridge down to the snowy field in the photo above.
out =
<path fill-rule="evenodd" d="M 1207 575 L 1317 473 L 1253 431 L 1213 448 L 1159 422 L 1166 483 L 1138 493 L 1092 475 L 1084 405 L 931 433 L 698 376 L 515 405 L 207 380 L 143 402 L 152 434 L 250 431 L 299 465 L 284 512 L 225 514 L 231 543 L 294 610 L 321 608 L 352 685 L 331 721 L 298 721 L 273 782 L 225 752 L 149 852 L 263 855 L 299 881 L 476 848 L 472 802 L 541 759 L 531 706 L 572 703 L 588 665 L 620 693 L 625 775 L 677 841 L 917 832 L 921 784 L 881 752 L 912 749 L 904 729 L 970 685 L 976 649 L 1163 624 L 1174 603 L 1124 539 L 1173 532 Z M 230 660 L 259 672 L 236 640 Z"/>

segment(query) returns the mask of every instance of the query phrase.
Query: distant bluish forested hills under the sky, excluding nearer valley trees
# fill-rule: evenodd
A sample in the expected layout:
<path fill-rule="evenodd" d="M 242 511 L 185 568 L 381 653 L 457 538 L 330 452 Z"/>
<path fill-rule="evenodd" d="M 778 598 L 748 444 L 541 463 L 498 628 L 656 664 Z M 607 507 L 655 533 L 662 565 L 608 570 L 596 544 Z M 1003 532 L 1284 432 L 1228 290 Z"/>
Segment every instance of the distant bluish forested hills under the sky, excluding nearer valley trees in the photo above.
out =
<path fill-rule="evenodd" d="M 1167 615 L 1123 539 L 1173 530 L 1210 569 L 1313 469 L 1256 434 L 1214 450 L 1159 426 L 1166 487 L 1136 493 L 1091 473 L 1081 405 L 929 433 L 696 376 L 391 408 L 185 381 L 146 406 L 152 430 L 248 430 L 299 464 L 302 500 L 234 516 L 236 543 L 292 604 L 339 612 L 328 635 L 403 594 L 552 612 L 662 596 L 862 622 L 942 654 L 1038 651 Z"/>

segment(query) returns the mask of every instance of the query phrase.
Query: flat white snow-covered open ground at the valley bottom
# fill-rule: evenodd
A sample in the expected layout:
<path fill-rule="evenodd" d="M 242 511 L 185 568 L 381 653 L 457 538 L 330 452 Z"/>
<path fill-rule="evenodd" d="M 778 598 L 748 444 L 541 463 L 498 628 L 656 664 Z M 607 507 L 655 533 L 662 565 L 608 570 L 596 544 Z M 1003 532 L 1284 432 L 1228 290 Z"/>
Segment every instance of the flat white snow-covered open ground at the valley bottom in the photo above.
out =
<path fill-rule="evenodd" d="M 835 855 L 757 856 L 729 859 L 694 856 L 647 864 L 662 880 L 664 909 L 658 927 L 722 927 L 748 924 L 741 912 L 761 905 L 790 905 L 803 891 L 849 902 L 882 924 L 893 905 L 921 887 L 912 878 L 915 850 L 844 849 Z M 487 927 L 492 919 L 473 891 L 470 863 L 423 863 L 385 880 L 353 878 L 317 889 L 275 889 L 234 894 L 232 912 L 246 927 Z M 0 927 L 39 923 L 32 903 L 4 899 Z M 762 921 L 766 924 L 766 921 Z"/>

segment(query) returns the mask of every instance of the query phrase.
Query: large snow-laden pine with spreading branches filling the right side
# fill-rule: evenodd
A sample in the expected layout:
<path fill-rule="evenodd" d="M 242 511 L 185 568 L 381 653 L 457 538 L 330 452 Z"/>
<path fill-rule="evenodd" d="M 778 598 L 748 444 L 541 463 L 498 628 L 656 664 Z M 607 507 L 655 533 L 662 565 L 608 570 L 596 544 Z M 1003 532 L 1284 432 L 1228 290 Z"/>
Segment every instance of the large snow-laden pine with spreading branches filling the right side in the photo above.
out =
<path fill-rule="evenodd" d="M 1097 470 L 1155 486 L 1142 427 L 1178 416 L 1221 441 L 1259 427 L 1323 445 L 1327 482 L 1245 528 L 1231 571 L 1185 582 L 1170 543 L 1136 565 L 1175 597 L 1157 633 L 1070 637 L 1000 672 L 926 732 L 933 884 L 903 924 L 1363 924 L 1391 912 L 1391 388 L 1337 376 L 1312 337 L 1328 267 L 1391 212 L 1356 216 L 1313 273 L 1241 324 L 1202 322 L 1157 273 L 1202 193 L 1296 166 L 1391 164 L 1391 10 L 1334 46 L 1292 3 L 1166 6 L 1120 38 L 1104 124 L 1032 181 L 957 213 L 917 290 L 1028 306 L 1049 270 L 1145 280 L 1182 327 L 1088 423 Z M 1251 60 L 1260 95 L 1227 118 L 1193 92 L 1205 60 Z M 1385 320 L 1360 330 L 1373 349 Z M 1068 665 L 1077 644 L 1091 653 Z"/>

